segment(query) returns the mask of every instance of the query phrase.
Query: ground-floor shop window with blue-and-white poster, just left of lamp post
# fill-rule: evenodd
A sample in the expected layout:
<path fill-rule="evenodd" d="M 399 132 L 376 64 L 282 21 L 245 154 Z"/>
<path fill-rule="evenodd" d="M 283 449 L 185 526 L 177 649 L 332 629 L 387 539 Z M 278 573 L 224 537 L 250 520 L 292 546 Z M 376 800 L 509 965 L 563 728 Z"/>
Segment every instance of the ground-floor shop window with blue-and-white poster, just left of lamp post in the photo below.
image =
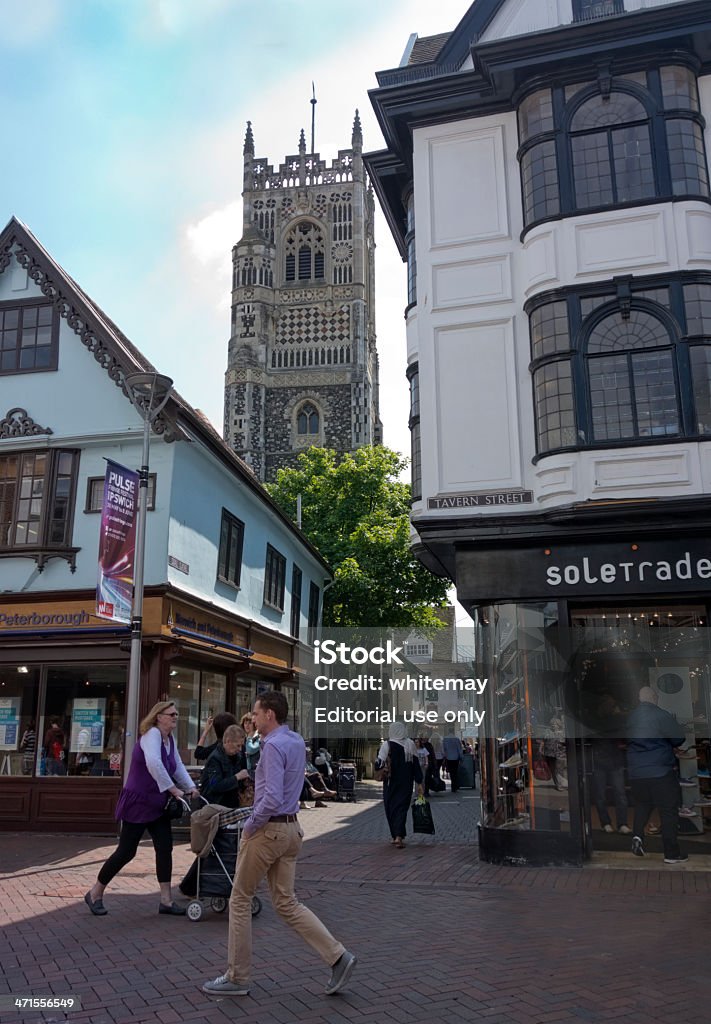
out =
<path fill-rule="evenodd" d="M 37 728 L 37 774 L 120 777 L 126 669 L 48 666 Z"/>

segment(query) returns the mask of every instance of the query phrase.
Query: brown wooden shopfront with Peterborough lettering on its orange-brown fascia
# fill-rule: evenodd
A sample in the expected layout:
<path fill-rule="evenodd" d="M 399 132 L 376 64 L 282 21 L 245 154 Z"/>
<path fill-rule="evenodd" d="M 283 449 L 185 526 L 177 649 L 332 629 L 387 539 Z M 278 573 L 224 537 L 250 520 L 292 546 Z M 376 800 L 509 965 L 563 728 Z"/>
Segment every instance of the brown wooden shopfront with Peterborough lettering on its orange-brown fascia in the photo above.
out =
<path fill-rule="evenodd" d="M 0 602 L 0 829 L 116 829 L 130 644 L 93 597 Z M 185 764 L 205 720 L 239 719 L 260 688 L 289 687 L 296 720 L 289 638 L 171 593 L 143 611 L 139 717 L 175 700 Z"/>

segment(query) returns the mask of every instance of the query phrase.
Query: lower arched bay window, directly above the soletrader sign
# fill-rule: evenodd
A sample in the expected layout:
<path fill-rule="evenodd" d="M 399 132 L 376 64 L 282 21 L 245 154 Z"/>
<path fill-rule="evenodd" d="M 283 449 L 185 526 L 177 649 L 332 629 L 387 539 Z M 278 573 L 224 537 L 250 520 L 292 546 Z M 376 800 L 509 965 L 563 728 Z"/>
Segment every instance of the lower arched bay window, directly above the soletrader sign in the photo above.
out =
<path fill-rule="evenodd" d="M 711 275 L 532 303 L 539 455 L 711 435 Z"/>

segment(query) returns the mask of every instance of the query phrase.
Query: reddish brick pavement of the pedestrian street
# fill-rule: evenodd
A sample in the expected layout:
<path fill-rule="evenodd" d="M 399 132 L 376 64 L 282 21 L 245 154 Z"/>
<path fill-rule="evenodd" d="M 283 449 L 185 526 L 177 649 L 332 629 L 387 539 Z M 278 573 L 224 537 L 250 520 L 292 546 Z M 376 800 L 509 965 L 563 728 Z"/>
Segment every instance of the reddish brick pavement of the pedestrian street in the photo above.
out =
<path fill-rule="evenodd" d="M 92 918 L 82 897 L 113 843 L 106 838 L 0 836 L 0 992 L 81 994 L 84 1010 L 0 1021 L 72 1024 L 488 1024 L 711 1017 L 704 948 L 711 873 L 512 868 L 479 864 L 475 846 L 385 842 L 374 788 L 354 805 L 301 815 L 299 894 L 360 965 L 342 994 L 323 995 L 328 970 L 276 918 L 268 897 L 253 923 L 255 974 L 243 999 L 200 990 L 221 973 L 226 918 L 159 916 L 153 851 Z M 475 804 L 433 801 L 442 831 Z M 371 799 L 369 799 L 371 798 Z M 471 813 L 470 813 L 471 809 Z M 176 847 L 175 878 L 191 862 Z M 630 865 L 632 866 L 632 865 Z"/>

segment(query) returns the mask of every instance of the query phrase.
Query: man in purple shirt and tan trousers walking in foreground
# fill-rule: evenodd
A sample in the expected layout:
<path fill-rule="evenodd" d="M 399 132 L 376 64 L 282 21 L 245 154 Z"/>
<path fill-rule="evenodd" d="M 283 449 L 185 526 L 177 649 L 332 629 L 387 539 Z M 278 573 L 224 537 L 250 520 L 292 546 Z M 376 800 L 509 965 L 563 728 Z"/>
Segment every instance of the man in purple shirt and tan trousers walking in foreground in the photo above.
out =
<path fill-rule="evenodd" d="M 345 985 L 356 956 L 294 895 L 296 858 L 303 833 L 297 818 L 306 748 L 285 724 L 289 712 L 283 693 L 269 690 L 254 703 L 254 723 L 262 737 L 254 784 L 254 808 L 242 833 L 240 856 L 229 900 L 227 970 L 203 985 L 214 995 L 247 995 L 252 968 L 252 897 L 263 878 L 277 913 L 331 967 L 326 994 Z"/>

